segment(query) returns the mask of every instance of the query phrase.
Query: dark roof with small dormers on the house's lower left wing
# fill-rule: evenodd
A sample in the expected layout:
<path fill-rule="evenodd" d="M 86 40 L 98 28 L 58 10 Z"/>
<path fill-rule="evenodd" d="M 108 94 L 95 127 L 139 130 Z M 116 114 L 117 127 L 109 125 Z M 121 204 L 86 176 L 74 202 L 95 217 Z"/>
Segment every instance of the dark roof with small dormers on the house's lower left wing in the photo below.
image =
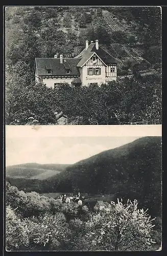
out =
<path fill-rule="evenodd" d="M 63 64 L 60 64 L 60 58 L 35 58 L 37 75 L 38 76 L 47 76 L 46 67 L 52 66 L 52 75 L 80 75 L 79 70 L 77 69 L 77 64 L 80 59 L 75 58 L 64 58 L 66 62 L 63 61 Z M 70 67 L 71 72 L 66 73 L 66 68 Z M 50 75 L 51 76 L 51 75 Z"/>

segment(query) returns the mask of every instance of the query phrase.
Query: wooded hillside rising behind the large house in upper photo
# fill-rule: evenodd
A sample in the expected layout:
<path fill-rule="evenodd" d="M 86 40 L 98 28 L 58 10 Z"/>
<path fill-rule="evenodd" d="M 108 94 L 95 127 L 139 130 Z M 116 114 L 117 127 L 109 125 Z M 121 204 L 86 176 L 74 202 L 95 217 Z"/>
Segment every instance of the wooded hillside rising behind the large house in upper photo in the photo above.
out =
<path fill-rule="evenodd" d="M 159 7 L 6 7 L 5 19 L 7 63 L 33 68 L 35 57 L 73 57 L 96 39 L 119 60 L 120 75 L 161 61 Z"/>

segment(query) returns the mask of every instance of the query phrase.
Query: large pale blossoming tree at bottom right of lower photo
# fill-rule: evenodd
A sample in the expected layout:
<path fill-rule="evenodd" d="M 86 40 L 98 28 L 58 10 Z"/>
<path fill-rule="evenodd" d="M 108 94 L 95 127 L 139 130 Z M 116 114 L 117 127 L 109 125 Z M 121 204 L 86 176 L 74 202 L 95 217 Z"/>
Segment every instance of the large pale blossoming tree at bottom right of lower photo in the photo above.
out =
<path fill-rule="evenodd" d="M 147 211 L 137 209 L 137 201 L 111 202 L 110 211 L 94 215 L 86 223 L 88 241 L 92 249 L 151 250 L 152 225 Z"/>

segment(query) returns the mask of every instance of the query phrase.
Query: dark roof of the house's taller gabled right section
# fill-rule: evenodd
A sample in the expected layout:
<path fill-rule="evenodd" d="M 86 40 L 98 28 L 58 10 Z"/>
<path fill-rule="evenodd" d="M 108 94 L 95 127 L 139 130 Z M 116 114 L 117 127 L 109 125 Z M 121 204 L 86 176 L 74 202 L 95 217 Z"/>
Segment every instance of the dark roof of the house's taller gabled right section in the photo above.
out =
<path fill-rule="evenodd" d="M 106 65 L 110 65 L 112 63 L 117 63 L 117 59 L 115 59 L 110 53 L 108 53 L 106 50 L 104 50 L 101 46 L 99 46 L 99 49 L 96 49 L 96 44 L 90 44 L 88 46 L 88 49 L 84 49 L 80 54 L 78 54 L 75 58 L 86 58 L 87 56 L 91 56 L 91 53 L 96 52 L 98 56 L 106 63 Z M 89 58 L 89 57 L 88 57 Z M 78 63 L 79 66 L 80 63 Z M 83 65 L 83 64 L 82 64 Z M 81 65 L 81 66 L 82 66 Z"/>

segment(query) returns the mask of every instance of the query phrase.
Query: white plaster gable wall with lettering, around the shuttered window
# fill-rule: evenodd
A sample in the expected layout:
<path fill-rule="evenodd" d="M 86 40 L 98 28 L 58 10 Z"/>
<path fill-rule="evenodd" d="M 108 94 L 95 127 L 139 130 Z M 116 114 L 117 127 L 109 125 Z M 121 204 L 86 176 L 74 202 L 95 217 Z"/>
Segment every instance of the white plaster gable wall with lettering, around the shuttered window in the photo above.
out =
<path fill-rule="evenodd" d="M 106 68 L 105 66 L 96 66 L 96 68 L 101 68 L 101 75 L 88 75 L 87 69 L 92 68 L 92 66 L 83 66 L 82 68 L 82 84 L 88 86 L 89 83 L 105 83 L 106 81 Z M 94 67 L 95 68 L 95 67 Z"/>

